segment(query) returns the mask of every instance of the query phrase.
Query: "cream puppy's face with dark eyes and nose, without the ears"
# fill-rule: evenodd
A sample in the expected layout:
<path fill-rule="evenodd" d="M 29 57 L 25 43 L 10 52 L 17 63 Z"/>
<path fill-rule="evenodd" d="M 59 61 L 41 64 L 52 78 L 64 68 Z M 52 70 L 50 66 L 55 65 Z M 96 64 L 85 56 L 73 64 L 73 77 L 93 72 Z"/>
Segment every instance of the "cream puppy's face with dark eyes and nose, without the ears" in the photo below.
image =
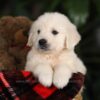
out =
<path fill-rule="evenodd" d="M 34 26 L 34 47 L 42 51 L 58 51 L 64 48 L 65 34 L 62 27 L 52 21 L 37 21 Z"/>

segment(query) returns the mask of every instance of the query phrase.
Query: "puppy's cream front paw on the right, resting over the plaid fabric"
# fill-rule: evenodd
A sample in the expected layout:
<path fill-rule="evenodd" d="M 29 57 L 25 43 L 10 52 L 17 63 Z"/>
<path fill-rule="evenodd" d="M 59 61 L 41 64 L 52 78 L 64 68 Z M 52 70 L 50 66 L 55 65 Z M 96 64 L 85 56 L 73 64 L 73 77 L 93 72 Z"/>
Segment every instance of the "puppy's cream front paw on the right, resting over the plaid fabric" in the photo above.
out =
<path fill-rule="evenodd" d="M 68 84 L 70 78 L 71 78 L 71 72 L 57 70 L 54 73 L 53 84 L 57 88 L 62 89 Z"/>

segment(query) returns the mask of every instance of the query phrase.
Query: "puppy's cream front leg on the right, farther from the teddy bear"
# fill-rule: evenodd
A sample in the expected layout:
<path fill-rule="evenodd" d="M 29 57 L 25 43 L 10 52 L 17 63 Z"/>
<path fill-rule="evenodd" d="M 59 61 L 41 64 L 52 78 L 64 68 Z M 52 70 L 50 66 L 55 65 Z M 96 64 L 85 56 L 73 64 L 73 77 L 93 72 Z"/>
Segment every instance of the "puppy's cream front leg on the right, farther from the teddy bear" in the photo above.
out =
<path fill-rule="evenodd" d="M 53 84 L 57 88 L 64 88 L 71 78 L 71 70 L 66 65 L 58 65 L 54 69 Z"/>

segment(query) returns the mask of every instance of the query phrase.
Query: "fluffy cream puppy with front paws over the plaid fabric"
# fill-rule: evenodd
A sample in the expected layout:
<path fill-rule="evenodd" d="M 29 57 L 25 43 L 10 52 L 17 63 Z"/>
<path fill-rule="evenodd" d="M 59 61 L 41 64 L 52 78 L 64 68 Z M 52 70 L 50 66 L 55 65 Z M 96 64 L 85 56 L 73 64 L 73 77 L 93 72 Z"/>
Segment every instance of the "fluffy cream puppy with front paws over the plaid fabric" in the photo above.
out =
<path fill-rule="evenodd" d="M 75 25 L 60 13 L 45 13 L 30 29 L 25 70 L 32 71 L 40 83 L 63 88 L 73 73 L 86 73 L 82 61 L 74 52 L 80 35 Z"/>

